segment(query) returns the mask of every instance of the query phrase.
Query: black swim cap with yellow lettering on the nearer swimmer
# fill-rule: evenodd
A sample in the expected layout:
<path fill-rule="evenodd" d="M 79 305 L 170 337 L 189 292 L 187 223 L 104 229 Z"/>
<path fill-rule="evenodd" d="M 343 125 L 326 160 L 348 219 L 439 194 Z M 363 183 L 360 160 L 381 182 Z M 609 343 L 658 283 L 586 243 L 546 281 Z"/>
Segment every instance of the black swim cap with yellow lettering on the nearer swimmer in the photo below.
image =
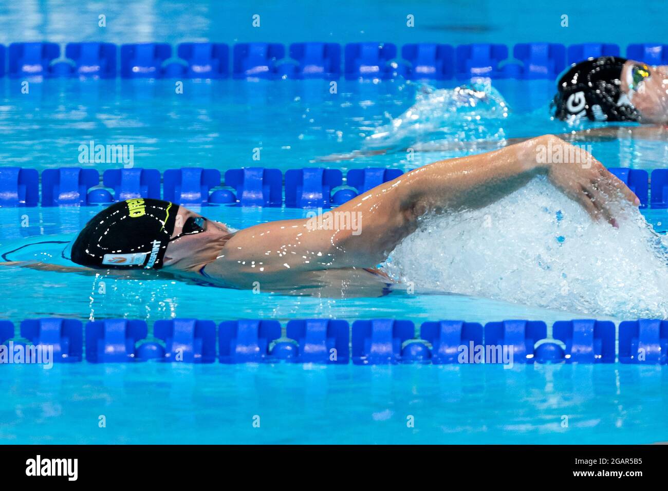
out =
<path fill-rule="evenodd" d="M 73 262 L 92 268 L 162 268 L 178 204 L 137 198 L 96 214 L 72 244 Z"/>

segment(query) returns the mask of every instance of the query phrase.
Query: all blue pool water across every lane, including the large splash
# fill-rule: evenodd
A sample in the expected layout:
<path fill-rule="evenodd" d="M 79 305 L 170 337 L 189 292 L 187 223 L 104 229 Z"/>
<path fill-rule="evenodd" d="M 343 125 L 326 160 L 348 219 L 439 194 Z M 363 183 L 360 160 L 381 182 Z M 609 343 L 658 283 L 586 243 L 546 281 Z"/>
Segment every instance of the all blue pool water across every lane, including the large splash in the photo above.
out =
<path fill-rule="evenodd" d="M 424 1 L 409 9 L 379 1 L 318 5 L 212 1 L 184 7 L 176 1 L 136 1 L 73 9 L 64 1 L 20 6 L 5 2 L 0 3 L 0 42 L 319 39 L 512 44 L 550 39 L 625 46 L 663 39 L 666 13 L 661 2 L 629 9 L 621 1 L 608 2 L 605 11 L 597 13 L 597 22 L 592 21 L 590 7 L 576 2 L 546 7 L 528 1 Z M 104 30 L 97 25 L 100 13 L 108 18 Z M 261 29 L 244 23 L 253 13 L 263 15 Z M 408 13 L 417 19 L 413 30 L 405 27 Z M 563 13 L 570 16 L 568 28 L 559 26 Z M 627 28 L 634 25 L 643 29 Z M 438 87 L 454 85 L 452 81 Z M 489 140 L 561 133 L 570 128 L 552 122 L 547 113 L 553 87 L 552 81 L 494 82 L 494 90 L 510 108 L 507 117 L 484 114 L 478 120 L 469 117 L 475 112 L 465 110 L 439 120 L 442 110 L 435 104 L 423 118 L 432 130 L 411 128 L 397 144 L 401 150 L 457 139 L 470 143 L 464 150 L 416 152 L 414 160 L 398 151 L 316 165 L 344 171 L 367 166 L 409 170 L 484 150 Z M 364 148 L 367 137 L 410 108 L 423 91 L 419 84 L 401 81 L 340 81 L 338 93 L 330 94 L 327 81 L 222 80 L 185 81 L 184 93 L 176 94 L 174 81 L 116 79 L 46 80 L 21 94 L 16 80 L 4 78 L 0 159 L 2 165 L 39 170 L 118 168 L 79 162 L 79 145 L 94 140 L 132 144 L 136 167 L 224 171 L 261 165 L 285 171 L 308 166 L 320 156 Z M 252 158 L 255 148 L 261 149 L 260 162 Z M 613 140 L 592 143 L 592 152 L 609 167 L 652 170 L 665 167 L 668 145 Z M 0 208 L 0 252 L 70 240 L 98 210 Z M 560 232 L 554 219 L 558 210 L 565 217 L 558 225 Z M 202 212 L 236 228 L 305 216 L 304 210 L 275 208 L 211 207 Z M 644 214 L 656 230 L 665 232 L 665 212 Z M 486 216 L 492 219 L 492 229 L 480 230 Z M 555 245 L 557 233 L 566 236 L 560 248 Z M 170 280 L 129 281 L 104 274 L 0 267 L 0 317 L 16 324 L 35 317 L 125 317 L 144 319 L 149 325 L 175 317 L 216 322 L 251 317 L 284 323 L 307 317 L 390 317 L 415 323 L 519 318 L 548 325 L 582 317 L 666 317 L 666 266 L 643 249 L 643 234 L 644 228 L 633 222 L 619 231 L 591 226 L 576 206 L 535 182 L 480 214 L 432 224 L 428 232 L 404 244 L 391 267 L 415 281 L 413 294 L 397 289 L 386 297 L 294 297 Z M 492 242 L 495 237 L 498 242 Z M 28 245 L 11 259 L 59 263 L 60 251 L 58 244 Z M 564 278 L 557 282 L 554 275 L 566 275 L 566 293 L 561 293 Z M 100 281 L 106 283 L 104 295 L 99 293 Z M 665 368 L 619 364 L 504 369 L 84 362 L 49 370 L 13 365 L 0 367 L 0 442 L 651 443 L 668 440 L 667 383 Z M 100 416 L 106 418 L 106 428 L 98 426 Z M 253 427 L 255 416 L 260 428 Z M 414 428 L 407 428 L 409 416 L 415 418 Z"/>

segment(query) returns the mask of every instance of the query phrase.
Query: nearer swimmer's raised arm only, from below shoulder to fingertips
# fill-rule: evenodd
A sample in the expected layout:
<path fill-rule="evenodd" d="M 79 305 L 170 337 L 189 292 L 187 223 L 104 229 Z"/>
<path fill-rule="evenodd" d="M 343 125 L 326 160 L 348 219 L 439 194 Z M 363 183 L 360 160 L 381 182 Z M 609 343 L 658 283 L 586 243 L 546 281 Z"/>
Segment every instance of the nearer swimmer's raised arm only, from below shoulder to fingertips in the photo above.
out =
<path fill-rule="evenodd" d="M 565 163 L 550 164 L 544 152 L 561 147 Z M 615 197 L 637 198 L 591 154 L 552 135 L 532 138 L 494 152 L 435 162 L 347 202 L 337 210 L 359 210 L 363 231 L 347 238 L 361 257 L 386 255 L 426 213 L 480 208 L 520 188 L 537 174 L 576 200 L 594 217 L 611 223 Z M 353 244 L 355 244 L 353 248 Z"/>

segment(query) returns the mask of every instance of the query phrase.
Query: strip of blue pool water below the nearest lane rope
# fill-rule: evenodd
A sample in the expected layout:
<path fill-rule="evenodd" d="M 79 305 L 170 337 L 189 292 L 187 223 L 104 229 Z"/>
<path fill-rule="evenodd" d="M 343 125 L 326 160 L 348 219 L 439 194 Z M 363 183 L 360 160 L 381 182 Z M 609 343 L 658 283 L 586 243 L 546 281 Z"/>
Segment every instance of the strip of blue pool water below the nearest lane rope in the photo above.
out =
<path fill-rule="evenodd" d="M 10 371 L 0 379 L 3 444 L 645 444 L 668 436 L 661 367 L 78 363 L 2 373 Z"/>

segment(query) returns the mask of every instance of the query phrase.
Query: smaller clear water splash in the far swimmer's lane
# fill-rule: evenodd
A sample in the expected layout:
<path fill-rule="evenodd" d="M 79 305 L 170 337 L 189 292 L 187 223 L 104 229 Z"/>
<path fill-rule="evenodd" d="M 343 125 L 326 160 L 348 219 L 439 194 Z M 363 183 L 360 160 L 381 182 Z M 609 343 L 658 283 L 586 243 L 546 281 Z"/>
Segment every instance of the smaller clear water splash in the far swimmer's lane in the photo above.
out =
<path fill-rule="evenodd" d="M 508 106 L 486 80 L 454 89 L 421 86 L 415 104 L 401 116 L 388 115 L 390 122 L 365 138 L 365 146 L 403 146 L 435 137 L 447 141 L 504 138 L 499 120 L 508 117 Z"/>

